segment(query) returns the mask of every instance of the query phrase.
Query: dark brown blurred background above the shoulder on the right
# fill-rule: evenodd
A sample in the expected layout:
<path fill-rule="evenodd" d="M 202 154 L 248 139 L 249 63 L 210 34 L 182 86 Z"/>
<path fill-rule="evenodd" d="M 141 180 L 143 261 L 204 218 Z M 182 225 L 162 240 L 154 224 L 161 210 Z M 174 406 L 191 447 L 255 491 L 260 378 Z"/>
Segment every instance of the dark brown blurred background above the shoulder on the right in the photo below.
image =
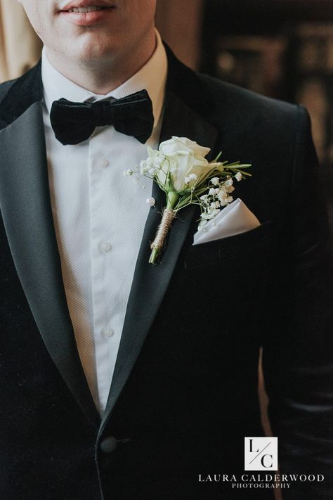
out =
<path fill-rule="evenodd" d="M 157 0 L 157 27 L 192 68 L 306 106 L 333 227 L 333 0 Z"/>

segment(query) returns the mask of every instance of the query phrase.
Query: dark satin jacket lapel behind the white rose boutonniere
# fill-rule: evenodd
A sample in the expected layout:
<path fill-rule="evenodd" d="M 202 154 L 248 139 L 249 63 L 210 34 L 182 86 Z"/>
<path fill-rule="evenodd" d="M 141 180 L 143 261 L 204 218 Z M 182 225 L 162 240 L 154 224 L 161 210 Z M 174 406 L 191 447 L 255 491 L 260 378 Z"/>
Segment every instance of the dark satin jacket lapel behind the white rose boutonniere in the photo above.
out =
<path fill-rule="evenodd" d="M 183 65 L 181 66 L 184 68 Z M 174 60 L 171 60 L 170 68 L 169 56 L 169 82 L 167 84 L 160 141 L 170 139 L 171 136 L 185 136 L 213 150 L 217 136 L 216 129 L 179 96 L 181 93 L 177 91 L 173 70 Z M 196 82 L 195 77 L 192 75 L 194 74 L 190 72 L 190 82 L 188 82 L 190 85 Z M 156 184 L 153 186 L 152 196 L 157 200 L 156 208 L 150 210 L 145 224 L 141 249 L 136 262 L 131 293 L 126 309 L 122 340 L 119 345 L 115 372 L 100 432 L 105 427 L 110 412 L 115 406 L 119 394 L 126 380 L 129 378 L 138 354 L 143 347 L 146 335 L 150 330 L 150 326 L 152 326 L 152 322 L 168 288 L 179 252 L 181 252 L 190 223 L 192 222 L 192 217 L 195 213 L 195 205 L 190 205 L 182 210 L 180 217 L 174 220 L 171 231 L 169 231 L 166 248 L 162 254 L 161 261 L 155 265 L 148 264 L 150 242 L 155 237 L 157 226 L 161 220 L 162 207 L 165 206 L 165 195 L 159 190 Z"/>

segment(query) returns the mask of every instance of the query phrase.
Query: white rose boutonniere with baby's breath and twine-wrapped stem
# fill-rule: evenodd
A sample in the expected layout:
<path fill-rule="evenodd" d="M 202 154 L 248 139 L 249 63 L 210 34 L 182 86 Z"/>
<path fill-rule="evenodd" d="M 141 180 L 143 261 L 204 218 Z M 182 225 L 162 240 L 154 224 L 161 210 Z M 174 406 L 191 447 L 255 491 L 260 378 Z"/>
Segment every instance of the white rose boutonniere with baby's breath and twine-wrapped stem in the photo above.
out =
<path fill-rule="evenodd" d="M 128 169 L 125 176 L 149 177 L 166 194 L 166 207 L 159 224 L 155 240 L 150 245 L 152 253 L 149 263 L 155 264 L 162 253 L 166 236 L 179 210 L 188 205 L 200 205 L 201 215 L 198 231 L 204 231 L 207 222 L 223 207 L 233 201 L 234 179 L 241 181 L 249 176 L 244 169 L 250 164 L 219 162 L 217 158 L 208 162 L 210 148 L 204 148 L 186 137 L 173 136 L 159 144 L 158 150 L 148 146 L 148 158 L 135 169 Z"/>

